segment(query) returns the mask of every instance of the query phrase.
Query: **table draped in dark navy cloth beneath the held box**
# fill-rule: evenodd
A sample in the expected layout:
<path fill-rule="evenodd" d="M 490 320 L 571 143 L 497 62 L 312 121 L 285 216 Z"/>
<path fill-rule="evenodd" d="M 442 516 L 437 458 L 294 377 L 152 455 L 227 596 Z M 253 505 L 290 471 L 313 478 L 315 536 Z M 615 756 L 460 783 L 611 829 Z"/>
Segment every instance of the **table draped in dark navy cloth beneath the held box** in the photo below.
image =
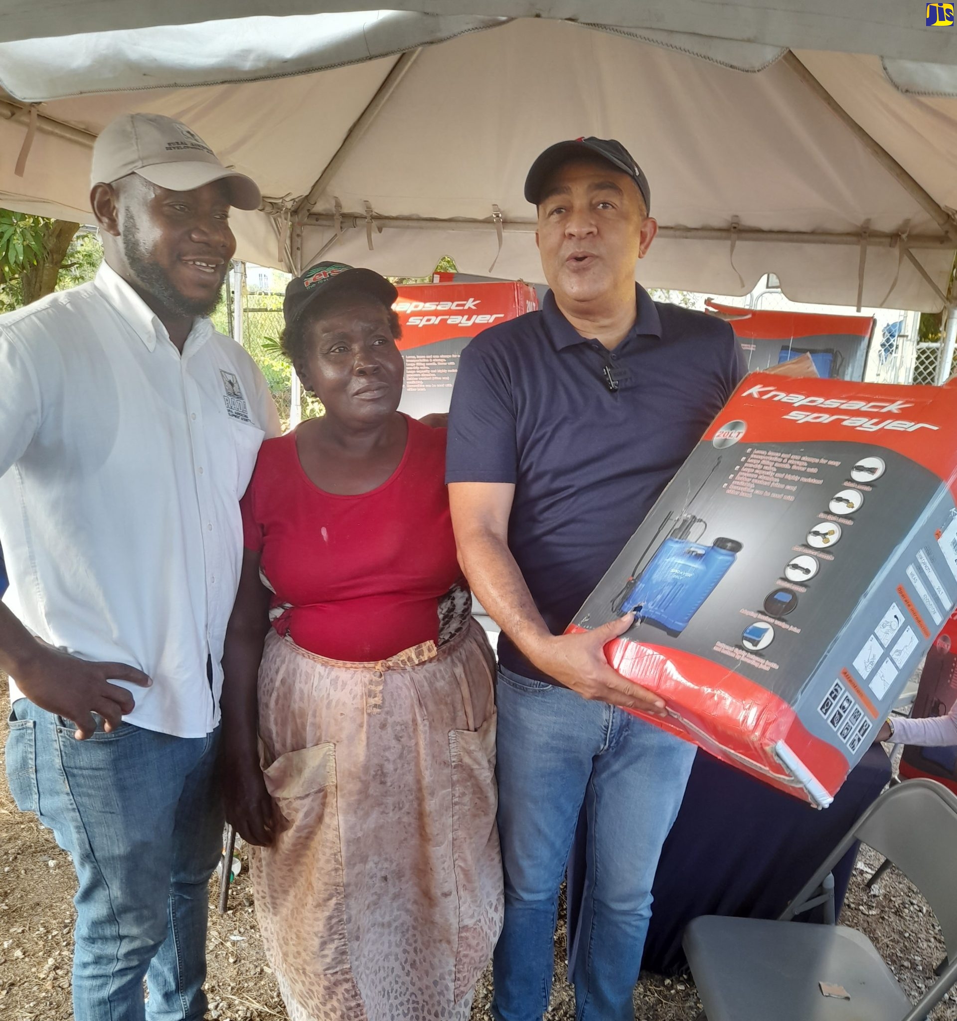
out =
<path fill-rule="evenodd" d="M 776 918 L 890 779 L 891 763 L 874 744 L 818 811 L 699 750 L 655 874 L 643 968 L 683 968 L 682 935 L 699 915 Z M 584 826 L 583 815 L 568 861 L 569 946 L 585 875 Z M 856 845 L 834 870 L 838 911 L 855 856 Z"/>

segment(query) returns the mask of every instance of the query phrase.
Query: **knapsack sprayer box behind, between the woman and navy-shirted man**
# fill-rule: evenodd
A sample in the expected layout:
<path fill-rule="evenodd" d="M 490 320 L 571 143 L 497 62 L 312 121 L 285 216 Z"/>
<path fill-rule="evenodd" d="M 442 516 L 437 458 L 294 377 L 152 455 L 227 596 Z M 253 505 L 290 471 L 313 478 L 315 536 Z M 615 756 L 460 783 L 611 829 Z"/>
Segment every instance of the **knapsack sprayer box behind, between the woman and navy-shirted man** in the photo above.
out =
<path fill-rule="evenodd" d="M 399 288 L 405 385 L 399 409 L 419 419 L 448 411 L 459 355 L 475 334 L 535 311 L 538 295 L 530 284 L 408 284 Z"/>

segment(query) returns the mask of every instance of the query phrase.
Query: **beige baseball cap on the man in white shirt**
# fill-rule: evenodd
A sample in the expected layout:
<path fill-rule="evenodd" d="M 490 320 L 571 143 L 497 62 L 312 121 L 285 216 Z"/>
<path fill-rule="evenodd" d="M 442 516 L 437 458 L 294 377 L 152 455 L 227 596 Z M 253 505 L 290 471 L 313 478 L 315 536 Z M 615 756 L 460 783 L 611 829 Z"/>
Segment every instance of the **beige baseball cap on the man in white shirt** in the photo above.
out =
<path fill-rule="evenodd" d="M 252 178 L 230 171 L 192 129 L 160 113 L 124 113 L 111 120 L 93 146 L 91 187 L 139 174 L 160 188 L 192 191 L 225 181 L 237 209 L 258 209 L 262 196 Z"/>

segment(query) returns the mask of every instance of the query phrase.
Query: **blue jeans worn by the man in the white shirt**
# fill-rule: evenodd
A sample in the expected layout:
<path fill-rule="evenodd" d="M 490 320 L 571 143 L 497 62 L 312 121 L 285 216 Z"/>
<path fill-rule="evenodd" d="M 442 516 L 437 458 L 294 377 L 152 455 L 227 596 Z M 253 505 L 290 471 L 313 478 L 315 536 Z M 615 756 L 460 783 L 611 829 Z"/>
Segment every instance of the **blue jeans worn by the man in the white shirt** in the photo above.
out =
<path fill-rule="evenodd" d="M 107 734 L 101 724 L 85 741 L 73 730 L 18 698 L 6 768 L 17 807 L 37 814 L 77 869 L 75 1021 L 198 1021 L 222 838 L 218 730 L 183 738 L 129 723 Z"/>

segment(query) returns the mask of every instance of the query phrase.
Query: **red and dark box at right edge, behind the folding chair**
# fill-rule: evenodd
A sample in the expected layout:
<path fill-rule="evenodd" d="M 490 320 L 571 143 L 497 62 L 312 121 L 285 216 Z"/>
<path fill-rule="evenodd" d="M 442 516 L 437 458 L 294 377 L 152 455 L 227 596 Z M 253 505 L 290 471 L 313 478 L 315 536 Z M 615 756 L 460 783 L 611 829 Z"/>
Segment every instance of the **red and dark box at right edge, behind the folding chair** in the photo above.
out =
<path fill-rule="evenodd" d="M 947 716 L 957 702 L 957 614 L 952 614 L 937 636 L 917 686 L 911 710 L 914 718 Z M 904 745 L 901 776 L 908 780 L 927 777 L 950 787 L 957 794 L 957 747 L 918 747 Z"/>

